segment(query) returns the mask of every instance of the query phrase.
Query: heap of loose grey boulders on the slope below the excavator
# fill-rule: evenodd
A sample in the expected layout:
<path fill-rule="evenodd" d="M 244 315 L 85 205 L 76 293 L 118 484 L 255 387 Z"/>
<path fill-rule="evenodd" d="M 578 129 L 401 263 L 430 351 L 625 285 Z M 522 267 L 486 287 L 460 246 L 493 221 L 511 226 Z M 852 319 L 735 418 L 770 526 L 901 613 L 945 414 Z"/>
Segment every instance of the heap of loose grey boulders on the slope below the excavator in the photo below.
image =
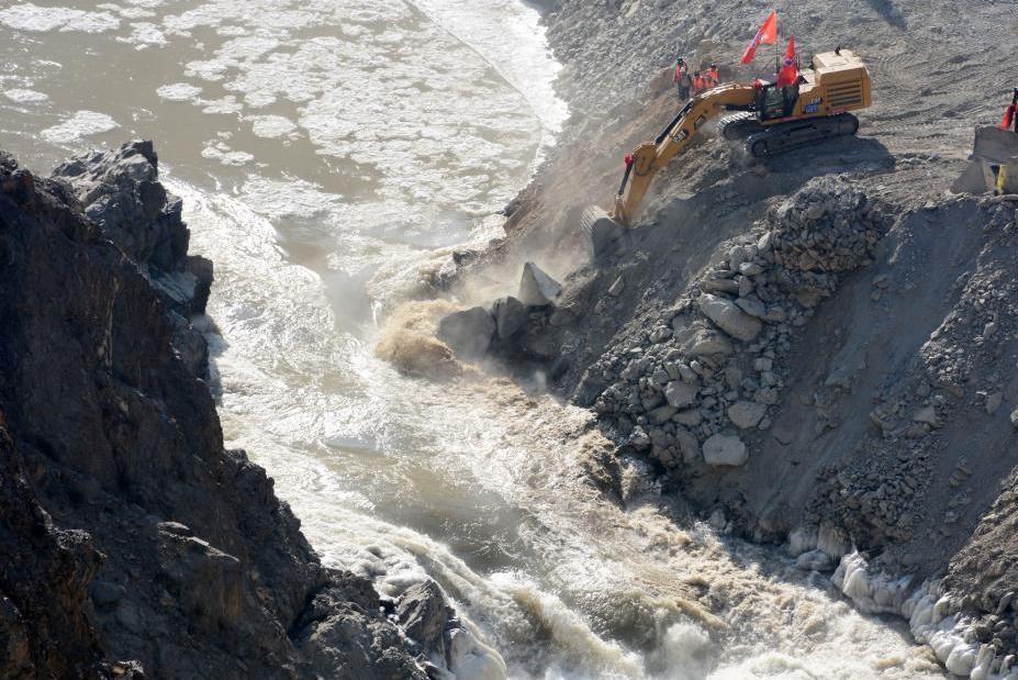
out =
<path fill-rule="evenodd" d="M 667 313 L 593 365 L 578 401 L 668 467 L 743 465 L 740 433 L 770 428 L 793 328 L 843 272 L 872 261 L 888 223 L 849 181 L 813 180 L 723 244 Z"/>

